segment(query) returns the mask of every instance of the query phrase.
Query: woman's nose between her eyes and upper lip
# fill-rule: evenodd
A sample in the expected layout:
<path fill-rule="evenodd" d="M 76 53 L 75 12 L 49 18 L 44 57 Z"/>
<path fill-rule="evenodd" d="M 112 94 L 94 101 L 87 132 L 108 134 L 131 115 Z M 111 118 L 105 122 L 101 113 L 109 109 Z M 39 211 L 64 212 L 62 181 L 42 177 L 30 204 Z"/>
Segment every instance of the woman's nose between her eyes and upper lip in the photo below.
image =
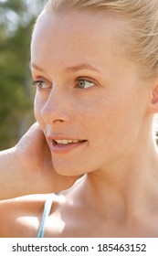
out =
<path fill-rule="evenodd" d="M 69 120 L 68 97 L 65 93 L 52 89 L 44 102 L 41 116 L 45 123 L 63 123 Z"/>

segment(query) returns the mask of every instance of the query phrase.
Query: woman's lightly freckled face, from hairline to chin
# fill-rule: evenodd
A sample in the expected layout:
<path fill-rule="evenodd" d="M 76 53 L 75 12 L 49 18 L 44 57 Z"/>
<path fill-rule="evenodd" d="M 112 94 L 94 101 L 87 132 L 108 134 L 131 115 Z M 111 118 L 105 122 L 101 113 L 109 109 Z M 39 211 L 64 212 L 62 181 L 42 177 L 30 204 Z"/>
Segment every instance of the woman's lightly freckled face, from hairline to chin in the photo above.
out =
<path fill-rule="evenodd" d="M 64 175 L 103 170 L 140 142 L 149 90 L 123 57 L 117 19 L 44 14 L 31 45 L 35 115 Z"/>

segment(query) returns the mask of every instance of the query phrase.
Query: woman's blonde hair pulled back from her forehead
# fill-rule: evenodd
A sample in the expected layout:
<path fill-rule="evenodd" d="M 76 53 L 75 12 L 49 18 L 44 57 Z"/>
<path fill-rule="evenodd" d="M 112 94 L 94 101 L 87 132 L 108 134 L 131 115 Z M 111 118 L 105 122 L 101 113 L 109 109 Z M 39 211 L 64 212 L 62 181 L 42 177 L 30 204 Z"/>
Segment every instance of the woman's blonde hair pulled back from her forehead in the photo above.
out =
<path fill-rule="evenodd" d="M 121 18 L 126 54 L 142 79 L 158 76 L 158 0 L 48 0 L 47 12 L 110 12 Z M 100 28 L 99 28 L 100 29 Z"/>

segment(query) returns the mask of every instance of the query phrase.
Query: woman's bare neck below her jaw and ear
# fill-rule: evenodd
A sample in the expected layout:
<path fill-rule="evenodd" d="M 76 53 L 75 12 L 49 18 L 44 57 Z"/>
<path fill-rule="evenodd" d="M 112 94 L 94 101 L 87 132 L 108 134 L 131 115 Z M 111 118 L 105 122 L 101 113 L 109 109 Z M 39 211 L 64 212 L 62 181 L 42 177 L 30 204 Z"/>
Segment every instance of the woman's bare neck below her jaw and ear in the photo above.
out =
<path fill-rule="evenodd" d="M 121 220 L 149 214 L 158 196 L 158 157 L 155 143 L 144 138 L 143 145 L 129 151 L 126 157 L 84 177 L 87 204 L 105 213 L 107 218 Z M 150 142 L 150 143 L 149 143 Z M 92 198 L 92 200 L 90 199 Z M 90 206 L 92 207 L 92 205 Z M 158 208 L 158 205 L 157 205 Z"/>

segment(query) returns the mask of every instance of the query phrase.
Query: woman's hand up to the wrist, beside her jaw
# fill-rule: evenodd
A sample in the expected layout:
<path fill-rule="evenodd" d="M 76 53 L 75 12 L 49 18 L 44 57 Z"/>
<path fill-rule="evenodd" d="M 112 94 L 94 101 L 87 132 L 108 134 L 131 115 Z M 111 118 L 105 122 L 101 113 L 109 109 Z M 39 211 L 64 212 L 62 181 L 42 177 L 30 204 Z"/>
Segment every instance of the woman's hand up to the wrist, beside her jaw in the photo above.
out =
<path fill-rule="evenodd" d="M 16 144 L 13 152 L 21 172 L 29 177 L 23 182 L 28 183 L 31 194 L 65 190 L 78 179 L 78 176 L 60 176 L 55 172 L 44 133 L 37 123 Z"/>

